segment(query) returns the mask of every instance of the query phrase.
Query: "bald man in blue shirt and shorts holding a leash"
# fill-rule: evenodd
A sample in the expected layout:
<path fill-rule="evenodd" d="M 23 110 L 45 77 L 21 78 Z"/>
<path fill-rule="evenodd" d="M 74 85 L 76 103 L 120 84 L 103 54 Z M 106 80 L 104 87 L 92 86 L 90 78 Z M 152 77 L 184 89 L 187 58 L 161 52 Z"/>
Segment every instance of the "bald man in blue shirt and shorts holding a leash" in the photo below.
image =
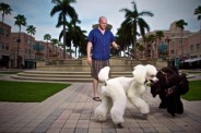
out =
<path fill-rule="evenodd" d="M 91 65 L 91 75 L 93 77 L 93 99 L 100 101 L 99 95 L 97 93 L 98 88 L 98 72 L 102 68 L 109 65 L 110 58 L 110 45 L 116 49 L 119 46 L 115 43 L 115 37 L 113 33 L 107 27 L 107 19 L 100 16 L 98 20 L 98 27 L 94 28 L 88 34 L 87 43 L 87 63 Z"/>

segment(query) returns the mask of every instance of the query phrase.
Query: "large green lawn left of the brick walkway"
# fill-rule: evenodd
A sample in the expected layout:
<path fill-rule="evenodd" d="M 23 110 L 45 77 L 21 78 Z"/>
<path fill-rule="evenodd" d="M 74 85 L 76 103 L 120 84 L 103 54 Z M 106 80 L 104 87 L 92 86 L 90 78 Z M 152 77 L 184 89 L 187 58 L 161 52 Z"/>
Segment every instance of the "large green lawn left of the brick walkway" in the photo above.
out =
<path fill-rule="evenodd" d="M 39 102 L 68 86 L 70 84 L 0 81 L 0 101 Z"/>

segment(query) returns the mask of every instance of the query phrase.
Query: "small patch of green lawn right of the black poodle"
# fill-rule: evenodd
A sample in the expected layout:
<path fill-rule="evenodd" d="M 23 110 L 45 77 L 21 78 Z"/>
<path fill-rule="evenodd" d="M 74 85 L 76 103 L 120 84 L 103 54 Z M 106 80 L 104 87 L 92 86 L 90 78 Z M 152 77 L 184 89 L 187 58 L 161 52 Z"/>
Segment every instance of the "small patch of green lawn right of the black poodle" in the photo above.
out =
<path fill-rule="evenodd" d="M 190 81 L 189 92 L 181 96 L 186 100 L 201 100 L 201 81 Z"/>

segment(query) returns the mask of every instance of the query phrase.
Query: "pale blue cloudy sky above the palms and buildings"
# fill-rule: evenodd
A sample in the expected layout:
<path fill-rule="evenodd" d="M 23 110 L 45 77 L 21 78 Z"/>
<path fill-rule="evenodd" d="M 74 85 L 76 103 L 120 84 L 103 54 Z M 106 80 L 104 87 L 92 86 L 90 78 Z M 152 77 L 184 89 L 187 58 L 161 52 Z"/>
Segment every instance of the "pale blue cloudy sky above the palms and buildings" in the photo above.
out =
<path fill-rule="evenodd" d="M 125 20 L 125 12 L 121 9 L 133 10 L 133 0 L 76 0 L 71 5 L 79 14 L 82 29 L 86 31 L 86 35 L 92 29 L 92 25 L 98 22 L 99 16 L 106 16 L 109 24 L 113 25 L 114 35 L 117 28 Z M 143 16 L 151 27 L 151 31 L 167 31 L 170 23 L 185 20 L 188 23 L 185 29 L 198 32 L 200 23 L 197 15 L 193 15 L 194 9 L 201 5 L 201 0 L 134 0 L 138 11 L 151 11 L 154 16 Z M 59 37 L 61 27 L 57 28 L 58 14 L 50 16 L 54 8 L 51 0 L 0 0 L 10 4 L 13 10 L 11 15 L 4 16 L 4 23 L 12 26 L 12 32 L 19 32 L 19 27 L 14 25 L 14 16 L 22 14 L 26 17 L 27 25 L 36 27 L 34 35 L 36 40 L 44 40 L 45 34 L 50 34 L 51 38 Z M 2 12 L 0 12 L 0 20 Z M 69 17 L 68 17 L 69 19 Z M 26 33 L 26 27 L 22 27 L 22 32 Z"/>

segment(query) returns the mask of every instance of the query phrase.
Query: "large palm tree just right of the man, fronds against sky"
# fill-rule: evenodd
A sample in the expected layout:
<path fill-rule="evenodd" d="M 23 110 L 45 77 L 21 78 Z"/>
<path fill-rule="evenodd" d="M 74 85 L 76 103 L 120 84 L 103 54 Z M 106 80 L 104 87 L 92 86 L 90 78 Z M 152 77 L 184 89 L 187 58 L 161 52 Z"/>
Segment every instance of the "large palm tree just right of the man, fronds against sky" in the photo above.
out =
<path fill-rule="evenodd" d="M 135 2 L 131 2 L 133 4 L 133 11 L 129 9 L 121 9 L 126 14 L 126 21 L 123 22 L 126 26 L 130 27 L 131 36 L 132 36 L 132 48 L 134 48 L 134 44 L 137 43 L 138 28 L 140 29 L 140 34 L 142 37 L 145 36 L 145 31 L 150 31 L 149 24 L 142 19 L 142 16 L 154 16 L 154 14 L 150 11 L 139 12 L 137 9 Z"/>

